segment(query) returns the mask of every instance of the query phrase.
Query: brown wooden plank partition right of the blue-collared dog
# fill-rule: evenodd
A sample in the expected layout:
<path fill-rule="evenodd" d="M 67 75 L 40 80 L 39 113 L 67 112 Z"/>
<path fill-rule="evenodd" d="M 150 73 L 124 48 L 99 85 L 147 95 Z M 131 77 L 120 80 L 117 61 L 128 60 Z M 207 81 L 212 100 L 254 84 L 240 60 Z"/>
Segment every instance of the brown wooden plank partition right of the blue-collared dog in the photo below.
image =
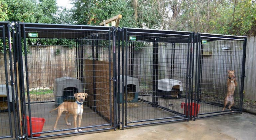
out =
<path fill-rule="evenodd" d="M 93 106 L 93 68 L 92 60 L 84 60 L 86 88 L 90 87 L 87 99 L 88 105 Z M 109 64 L 104 61 L 95 61 L 95 85 L 96 85 L 96 110 L 102 116 L 110 119 L 110 99 L 109 99 Z M 112 65 L 111 65 L 112 66 Z M 112 72 L 111 72 L 112 73 Z M 112 75 L 111 75 L 112 76 Z M 113 86 L 111 87 L 113 89 Z M 113 92 L 113 90 L 112 90 Z M 113 93 L 111 93 L 113 95 Z M 113 109 L 113 96 L 112 109 Z M 113 113 L 112 113 L 113 116 Z M 113 121 L 113 118 L 112 118 Z"/>

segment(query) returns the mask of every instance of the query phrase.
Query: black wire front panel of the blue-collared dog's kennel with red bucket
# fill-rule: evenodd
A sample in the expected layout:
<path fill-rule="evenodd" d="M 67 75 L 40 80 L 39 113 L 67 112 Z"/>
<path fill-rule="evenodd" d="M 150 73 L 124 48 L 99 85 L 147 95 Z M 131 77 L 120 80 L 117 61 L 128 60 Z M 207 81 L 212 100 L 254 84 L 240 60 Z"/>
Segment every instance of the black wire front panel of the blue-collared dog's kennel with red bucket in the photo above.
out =
<path fill-rule="evenodd" d="M 18 23 L 19 65 L 24 99 L 24 136 L 28 139 L 114 128 L 112 27 Z M 23 81 L 24 80 L 24 81 Z M 74 132 L 70 114 L 57 128 L 57 108 L 86 92 L 81 132 Z M 78 119 L 78 118 L 77 118 Z"/>

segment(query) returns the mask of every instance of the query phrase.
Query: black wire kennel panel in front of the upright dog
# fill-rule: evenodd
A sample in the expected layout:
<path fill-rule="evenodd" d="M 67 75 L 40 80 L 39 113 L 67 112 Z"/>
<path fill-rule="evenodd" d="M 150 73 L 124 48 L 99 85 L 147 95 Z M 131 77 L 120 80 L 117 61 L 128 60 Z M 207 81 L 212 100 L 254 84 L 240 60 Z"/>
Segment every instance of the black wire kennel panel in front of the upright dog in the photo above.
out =
<path fill-rule="evenodd" d="M 246 37 L 198 33 L 196 44 L 194 118 L 241 113 Z M 235 76 L 228 76 L 229 70 L 234 70 Z M 230 99 L 226 98 L 229 82 L 237 84 Z M 223 109 L 225 98 L 234 100 L 231 110 L 230 102 Z"/>

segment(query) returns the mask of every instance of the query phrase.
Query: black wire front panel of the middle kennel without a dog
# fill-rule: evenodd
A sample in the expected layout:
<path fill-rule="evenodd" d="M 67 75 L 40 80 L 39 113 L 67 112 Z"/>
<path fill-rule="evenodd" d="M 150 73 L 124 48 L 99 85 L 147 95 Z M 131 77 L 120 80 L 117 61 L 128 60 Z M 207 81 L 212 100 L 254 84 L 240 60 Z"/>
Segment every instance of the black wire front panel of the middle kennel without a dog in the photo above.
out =
<path fill-rule="evenodd" d="M 188 119 L 193 33 L 123 28 L 116 36 L 123 128 Z"/>

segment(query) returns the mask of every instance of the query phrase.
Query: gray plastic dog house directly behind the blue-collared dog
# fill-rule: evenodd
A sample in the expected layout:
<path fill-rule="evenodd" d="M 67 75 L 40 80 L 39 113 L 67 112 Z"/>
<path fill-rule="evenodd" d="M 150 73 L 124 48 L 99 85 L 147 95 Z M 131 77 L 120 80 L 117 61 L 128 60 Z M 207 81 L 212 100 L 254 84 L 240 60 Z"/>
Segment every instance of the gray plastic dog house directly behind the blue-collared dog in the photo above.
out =
<path fill-rule="evenodd" d="M 72 77 L 61 77 L 54 80 L 53 94 L 59 106 L 64 101 L 73 101 L 74 93 L 83 92 L 82 82 Z"/>

